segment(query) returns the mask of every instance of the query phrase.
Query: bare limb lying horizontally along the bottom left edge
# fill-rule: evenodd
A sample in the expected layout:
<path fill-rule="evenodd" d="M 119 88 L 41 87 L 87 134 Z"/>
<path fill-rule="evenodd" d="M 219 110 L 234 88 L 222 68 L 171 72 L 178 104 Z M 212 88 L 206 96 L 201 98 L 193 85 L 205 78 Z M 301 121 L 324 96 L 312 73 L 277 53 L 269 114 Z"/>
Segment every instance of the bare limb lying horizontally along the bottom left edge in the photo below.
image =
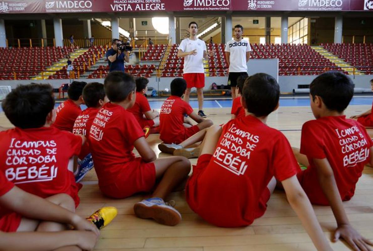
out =
<path fill-rule="evenodd" d="M 0 251 L 50 251 L 62 247 L 75 250 L 74 246 L 81 250 L 93 250 L 96 241 L 97 235 L 90 231 L 0 232 Z"/>

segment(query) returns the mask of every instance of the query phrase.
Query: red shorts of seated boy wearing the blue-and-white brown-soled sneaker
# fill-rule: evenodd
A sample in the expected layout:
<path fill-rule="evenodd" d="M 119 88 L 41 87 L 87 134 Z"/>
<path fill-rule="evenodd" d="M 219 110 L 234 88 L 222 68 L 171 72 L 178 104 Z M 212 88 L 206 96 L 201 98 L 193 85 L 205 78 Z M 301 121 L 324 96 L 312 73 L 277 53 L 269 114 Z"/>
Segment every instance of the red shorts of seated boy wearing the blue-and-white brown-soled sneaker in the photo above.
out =
<path fill-rule="evenodd" d="M 156 167 L 153 162 L 144 162 L 138 157 L 127 163 L 123 171 L 112 178 L 110 185 L 100 186 L 101 192 L 112 198 L 127 198 L 135 193 L 150 192 L 153 189 L 156 183 Z"/>

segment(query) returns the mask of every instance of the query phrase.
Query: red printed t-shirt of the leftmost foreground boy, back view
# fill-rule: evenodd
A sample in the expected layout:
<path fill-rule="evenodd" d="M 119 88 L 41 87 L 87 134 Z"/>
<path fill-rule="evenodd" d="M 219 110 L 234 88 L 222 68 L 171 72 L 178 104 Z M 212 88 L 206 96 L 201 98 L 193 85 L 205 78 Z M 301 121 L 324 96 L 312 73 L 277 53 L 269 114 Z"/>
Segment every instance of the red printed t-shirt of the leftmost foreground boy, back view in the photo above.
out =
<path fill-rule="evenodd" d="M 67 193 L 79 204 L 72 173 L 82 138 L 54 127 L 0 132 L 0 171 L 26 192 L 46 198 Z"/>

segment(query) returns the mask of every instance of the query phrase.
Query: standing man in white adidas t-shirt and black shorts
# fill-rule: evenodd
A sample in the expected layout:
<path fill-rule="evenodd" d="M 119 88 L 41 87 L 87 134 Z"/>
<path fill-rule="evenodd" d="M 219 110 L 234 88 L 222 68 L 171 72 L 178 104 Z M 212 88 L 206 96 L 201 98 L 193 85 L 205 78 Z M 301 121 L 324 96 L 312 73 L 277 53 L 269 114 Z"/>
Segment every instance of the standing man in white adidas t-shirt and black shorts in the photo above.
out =
<path fill-rule="evenodd" d="M 234 38 L 225 44 L 225 56 L 229 65 L 228 86 L 231 87 L 232 99 L 236 97 L 237 78 L 248 76 L 247 61 L 250 58 L 251 47 L 248 41 L 242 39 L 244 27 L 238 24 L 234 27 Z"/>

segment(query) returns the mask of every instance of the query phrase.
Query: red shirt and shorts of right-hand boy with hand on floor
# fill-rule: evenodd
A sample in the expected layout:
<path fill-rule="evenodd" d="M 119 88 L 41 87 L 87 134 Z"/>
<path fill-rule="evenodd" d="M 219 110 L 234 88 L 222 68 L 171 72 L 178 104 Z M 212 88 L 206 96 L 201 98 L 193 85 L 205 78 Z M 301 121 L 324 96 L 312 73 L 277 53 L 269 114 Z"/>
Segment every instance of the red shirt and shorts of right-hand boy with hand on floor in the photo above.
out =
<path fill-rule="evenodd" d="M 312 159 L 327 158 L 342 201 L 347 201 L 354 195 L 364 164 L 370 159 L 371 146 L 372 140 L 365 128 L 346 116 L 322 117 L 304 123 L 300 152 L 307 155 L 311 164 L 300 174 L 300 183 L 311 203 L 329 205 Z"/>

